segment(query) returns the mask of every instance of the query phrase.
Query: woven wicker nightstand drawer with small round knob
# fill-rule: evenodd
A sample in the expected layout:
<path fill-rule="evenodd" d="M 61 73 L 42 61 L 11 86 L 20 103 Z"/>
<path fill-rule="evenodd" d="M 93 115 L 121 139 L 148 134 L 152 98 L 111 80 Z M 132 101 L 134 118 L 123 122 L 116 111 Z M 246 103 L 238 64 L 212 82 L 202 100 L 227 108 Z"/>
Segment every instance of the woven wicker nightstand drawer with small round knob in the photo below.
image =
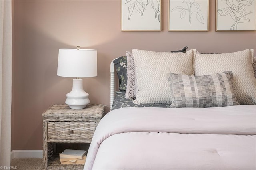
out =
<path fill-rule="evenodd" d="M 48 122 L 48 139 L 92 140 L 96 122 Z"/>

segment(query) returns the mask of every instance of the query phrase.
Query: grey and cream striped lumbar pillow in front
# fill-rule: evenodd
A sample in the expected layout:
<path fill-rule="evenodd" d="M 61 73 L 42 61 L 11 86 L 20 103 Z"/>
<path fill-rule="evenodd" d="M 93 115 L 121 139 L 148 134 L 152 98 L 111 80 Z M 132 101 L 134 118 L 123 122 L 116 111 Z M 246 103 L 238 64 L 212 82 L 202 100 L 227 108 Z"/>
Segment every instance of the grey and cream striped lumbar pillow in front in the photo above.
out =
<path fill-rule="evenodd" d="M 167 73 L 170 107 L 222 107 L 239 105 L 233 89 L 233 73 L 194 76 Z"/>

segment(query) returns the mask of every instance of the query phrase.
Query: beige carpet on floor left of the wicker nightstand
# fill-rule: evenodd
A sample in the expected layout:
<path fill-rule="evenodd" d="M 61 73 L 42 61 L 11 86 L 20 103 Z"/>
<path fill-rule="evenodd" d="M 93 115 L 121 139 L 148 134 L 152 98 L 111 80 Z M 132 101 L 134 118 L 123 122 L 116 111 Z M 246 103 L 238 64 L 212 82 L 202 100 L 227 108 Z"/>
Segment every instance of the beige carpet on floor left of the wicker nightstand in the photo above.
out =
<path fill-rule="evenodd" d="M 14 158 L 11 160 L 11 166 L 16 170 L 43 170 L 42 158 Z M 17 168 L 15 168 L 17 167 Z"/>

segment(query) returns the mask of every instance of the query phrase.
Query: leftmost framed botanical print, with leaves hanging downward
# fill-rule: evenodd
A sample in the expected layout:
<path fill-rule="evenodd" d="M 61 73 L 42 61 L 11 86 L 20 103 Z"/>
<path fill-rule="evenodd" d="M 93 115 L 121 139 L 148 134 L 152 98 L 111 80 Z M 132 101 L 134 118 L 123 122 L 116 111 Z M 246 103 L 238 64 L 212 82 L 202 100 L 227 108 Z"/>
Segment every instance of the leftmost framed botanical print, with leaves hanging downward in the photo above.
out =
<path fill-rule="evenodd" d="M 161 31 L 161 0 L 121 0 L 122 31 Z"/>

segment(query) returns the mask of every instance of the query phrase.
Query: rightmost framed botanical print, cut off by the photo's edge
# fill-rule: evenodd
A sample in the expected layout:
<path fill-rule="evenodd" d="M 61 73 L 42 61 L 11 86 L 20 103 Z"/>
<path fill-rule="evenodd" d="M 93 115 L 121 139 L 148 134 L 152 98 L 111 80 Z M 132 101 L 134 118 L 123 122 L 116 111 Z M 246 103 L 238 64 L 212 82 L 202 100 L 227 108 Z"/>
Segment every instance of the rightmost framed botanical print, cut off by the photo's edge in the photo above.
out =
<path fill-rule="evenodd" d="M 256 0 L 216 0 L 216 31 L 256 31 Z"/>

